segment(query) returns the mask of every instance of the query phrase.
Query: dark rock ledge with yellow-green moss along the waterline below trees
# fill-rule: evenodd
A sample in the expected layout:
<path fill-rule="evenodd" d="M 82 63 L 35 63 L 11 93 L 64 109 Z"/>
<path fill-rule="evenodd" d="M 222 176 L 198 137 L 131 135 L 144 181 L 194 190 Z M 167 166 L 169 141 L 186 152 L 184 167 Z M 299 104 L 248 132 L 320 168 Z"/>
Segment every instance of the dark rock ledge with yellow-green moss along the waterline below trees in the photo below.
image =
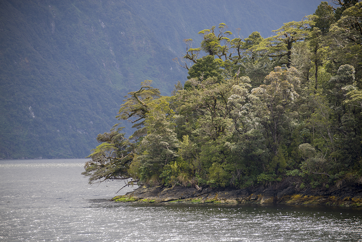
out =
<path fill-rule="evenodd" d="M 210 188 L 197 190 L 193 187 L 139 187 L 112 201 L 135 203 L 224 203 L 224 204 L 302 204 L 362 206 L 362 186 L 345 184 L 339 188 L 316 188 L 296 191 L 291 179 L 271 187 L 244 189 Z"/>

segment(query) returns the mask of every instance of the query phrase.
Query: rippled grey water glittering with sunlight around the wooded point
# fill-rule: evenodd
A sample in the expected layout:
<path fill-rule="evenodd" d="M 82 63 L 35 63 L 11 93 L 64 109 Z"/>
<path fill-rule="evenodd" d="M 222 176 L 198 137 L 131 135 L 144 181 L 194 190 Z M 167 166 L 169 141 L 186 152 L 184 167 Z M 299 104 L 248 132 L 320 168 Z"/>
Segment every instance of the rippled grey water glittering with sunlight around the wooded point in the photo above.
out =
<path fill-rule="evenodd" d="M 0 241 L 362 241 L 361 209 L 113 203 L 86 160 L 0 161 Z"/>

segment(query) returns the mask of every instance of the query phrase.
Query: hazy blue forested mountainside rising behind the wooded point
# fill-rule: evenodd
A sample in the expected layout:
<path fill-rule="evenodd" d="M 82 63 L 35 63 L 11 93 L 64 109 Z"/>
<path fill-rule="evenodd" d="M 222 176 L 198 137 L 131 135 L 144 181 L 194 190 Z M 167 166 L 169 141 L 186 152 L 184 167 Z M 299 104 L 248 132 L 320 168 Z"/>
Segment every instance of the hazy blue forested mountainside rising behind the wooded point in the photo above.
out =
<path fill-rule="evenodd" d="M 185 38 L 219 22 L 268 37 L 319 4 L 299 3 L 1 0 L 0 158 L 87 156 L 141 81 L 185 82 Z"/>

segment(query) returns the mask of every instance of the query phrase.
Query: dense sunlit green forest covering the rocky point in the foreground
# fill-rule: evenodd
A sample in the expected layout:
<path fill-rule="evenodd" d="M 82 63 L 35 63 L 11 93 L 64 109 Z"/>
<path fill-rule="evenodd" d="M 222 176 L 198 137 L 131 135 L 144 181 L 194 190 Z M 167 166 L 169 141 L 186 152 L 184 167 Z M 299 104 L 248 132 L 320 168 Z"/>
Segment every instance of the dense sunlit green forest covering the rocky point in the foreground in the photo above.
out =
<path fill-rule="evenodd" d="M 83 174 L 198 189 L 362 183 L 362 3 L 333 3 L 268 38 L 230 38 L 220 23 L 185 39 L 174 61 L 186 83 L 171 96 L 151 80 L 129 92 Z M 136 128 L 129 139 L 122 121 Z"/>

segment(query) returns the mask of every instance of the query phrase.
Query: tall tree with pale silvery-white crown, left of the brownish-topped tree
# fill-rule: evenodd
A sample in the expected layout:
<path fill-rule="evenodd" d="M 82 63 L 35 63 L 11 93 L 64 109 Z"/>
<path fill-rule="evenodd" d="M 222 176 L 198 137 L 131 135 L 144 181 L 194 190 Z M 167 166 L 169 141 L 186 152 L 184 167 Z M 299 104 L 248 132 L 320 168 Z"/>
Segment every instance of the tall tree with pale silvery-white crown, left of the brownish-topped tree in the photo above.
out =
<path fill-rule="evenodd" d="M 264 172 L 262 164 L 268 157 L 263 135 L 265 129 L 257 115 L 257 106 L 249 102 L 250 82 L 248 77 L 241 77 L 239 83 L 232 86 L 227 103 L 233 131 L 225 145 L 232 155 L 230 184 L 235 187 L 252 184 L 253 178 Z"/>

